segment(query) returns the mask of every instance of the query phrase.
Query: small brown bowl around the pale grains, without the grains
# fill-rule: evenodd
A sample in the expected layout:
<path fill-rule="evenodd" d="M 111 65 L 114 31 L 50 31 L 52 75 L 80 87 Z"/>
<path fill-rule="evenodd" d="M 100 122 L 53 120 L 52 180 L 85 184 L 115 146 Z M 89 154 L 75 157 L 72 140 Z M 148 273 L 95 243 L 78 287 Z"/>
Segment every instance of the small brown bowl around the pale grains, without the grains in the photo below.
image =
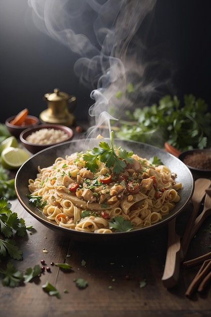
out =
<path fill-rule="evenodd" d="M 60 130 L 67 135 L 67 138 L 63 141 L 52 142 L 49 144 L 42 144 L 41 142 L 39 144 L 36 144 L 36 143 L 31 143 L 31 142 L 26 140 L 29 135 L 31 135 L 32 133 L 34 133 L 36 131 L 42 130 L 42 129 Z M 26 129 L 26 130 L 22 131 L 20 134 L 21 143 L 32 154 L 35 154 L 41 150 L 44 150 L 45 148 L 50 147 L 52 145 L 56 145 L 56 144 L 60 144 L 60 143 L 69 141 L 69 140 L 71 140 L 72 137 L 73 137 L 72 129 L 70 129 L 66 126 L 54 125 L 54 124 L 39 125 L 39 126 L 34 127 L 34 128 Z"/>

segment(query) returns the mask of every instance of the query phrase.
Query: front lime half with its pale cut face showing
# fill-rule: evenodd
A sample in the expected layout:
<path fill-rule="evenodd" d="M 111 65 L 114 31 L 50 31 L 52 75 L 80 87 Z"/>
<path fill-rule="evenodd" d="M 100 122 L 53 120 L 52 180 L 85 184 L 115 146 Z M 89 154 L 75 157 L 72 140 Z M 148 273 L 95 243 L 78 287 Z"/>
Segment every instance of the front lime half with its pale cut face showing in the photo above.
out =
<path fill-rule="evenodd" d="M 1 164 L 3 168 L 12 170 L 21 167 L 29 159 L 29 153 L 19 147 L 6 147 L 2 151 Z"/>

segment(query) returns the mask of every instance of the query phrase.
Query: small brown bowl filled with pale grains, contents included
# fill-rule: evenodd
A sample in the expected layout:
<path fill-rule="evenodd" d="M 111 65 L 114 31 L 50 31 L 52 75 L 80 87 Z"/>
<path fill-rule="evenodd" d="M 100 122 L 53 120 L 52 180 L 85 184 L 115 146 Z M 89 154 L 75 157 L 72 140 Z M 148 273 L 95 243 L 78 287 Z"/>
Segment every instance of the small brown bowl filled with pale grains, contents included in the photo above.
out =
<path fill-rule="evenodd" d="M 69 141 L 72 137 L 72 129 L 66 126 L 55 124 L 39 125 L 34 128 L 26 129 L 20 134 L 21 143 L 32 154 L 35 154 L 52 145 Z M 31 138 L 35 141 L 31 141 Z"/>

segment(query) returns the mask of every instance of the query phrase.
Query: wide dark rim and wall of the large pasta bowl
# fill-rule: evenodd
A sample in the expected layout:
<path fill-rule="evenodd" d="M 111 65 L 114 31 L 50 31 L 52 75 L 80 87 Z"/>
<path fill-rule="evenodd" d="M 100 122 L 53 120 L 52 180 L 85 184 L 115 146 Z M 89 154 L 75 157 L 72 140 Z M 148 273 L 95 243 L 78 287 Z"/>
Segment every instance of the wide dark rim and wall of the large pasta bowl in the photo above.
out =
<path fill-rule="evenodd" d="M 136 141 L 131 141 L 131 140 L 121 140 L 121 139 L 114 139 L 115 142 L 122 144 L 125 148 L 129 147 L 133 149 L 136 149 L 137 152 L 145 153 L 145 149 L 149 151 L 147 153 L 147 156 L 150 157 L 153 153 L 156 155 L 159 154 L 160 158 L 164 159 L 164 163 L 167 160 L 170 160 L 168 162 L 168 166 L 171 168 L 171 166 L 175 166 L 176 171 L 179 171 L 179 179 L 178 181 L 181 181 L 182 178 L 184 177 L 182 171 L 186 172 L 186 177 L 183 180 L 183 188 L 182 190 L 182 195 L 181 195 L 181 200 L 179 201 L 178 205 L 174 207 L 172 210 L 171 214 L 168 214 L 165 216 L 162 221 L 157 222 L 153 224 L 152 226 L 145 227 L 145 228 L 140 228 L 137 230 L 132 230 L 132 231 L 124 231 L 124 232 L 112 232 L 112 233 L 107 233 L 107 234 L 102 234 L 102 233 L 93 233 L 93 232 L 81 232 L 81 231 L 75 231 L 73 229 L 67 229 L 64 227 L 60 227 L 57 223 L 54 221 L 51 221 L 49 219 L 46 219 L 46 217 L 36 208 L 33 207 L 29 204 L 25 193 L 27 193 L 27 182 L 26 177 L 24 176 L 24 173 L 28 173 L 28 168 L 32 168 L 33 170 L 33 176 L 37 174 L 37 166 L 39 165 L 39 162 L 42 162 L 42 166 L 45 167 L 45 164 L 48 162 L 49 164 L 52 164 L 54 162 L 54 159 L 58 157 L 60 151 L 62 151 L 63 155 L 65 155 L 65 152 L 69 153 L 71 150 L 75 150 L 75 146 L 78 146 L 78 142 L 81 143 L 81 146 L 84 147 L 86 139 L 76 139 L 76 140 L 71 140 L 67 141 L 64 143 L 60 143 L 51 147 L 48 147 L 44 150 L 39 151 L 38 153 L 32 155 L 24 164 L 23 166 L 18 170 L 16 177 L 15 177 L 15 189 L 17 193 L 18 200 L 20 201 L 21 205 L 31 214 L 33 217 L 35 217 L 39 222 L 43 223 L 47 227 L 57 231 L 58 233 L 61 234 L 66 234 L 65 236 L 71 237 L 73 240 L 77 241 L 82 241 L 82 242 L 117 242 L 117 241 L 122 241 L 121 239 L 125 237 L 128 239 L 129 237 L 137 236 L 140 232 L 151 232 L 151 230 L 155 230 L 156 228 L 161 227 L 171 219 L 177 217 L 183 210 L 184 208 L 188 205 L 193 189 L 194 189 L 194 179 L 192 176 L 191 171 L 188 169 L 188 167 L 178 159 L 178 157 L 174 156 L 171 153 L 167 153 L 164 150 L 161 150 L 160 148 L 157 148 L 155 146 L 141 143 L 141 142 L 136 142 Z M 51 157 L 50 162 L 49 162 L 49 157 Z M 149 158 L 148 157 L 148 158 Z M 38 162 L 37 162 L 38 160 Z M 47 160 L 47 162 L 46 162 Z M 45 162 L 44 162 L 45 161 Z M 171 164 L 170 164 L 171 163 Z M 179 165 L 179 166 L 178 166 Z M 27 174 L 28 175 L 28 174 Z M 31 174 L 32 175 L 32 174 Z M 20 185 L 20 186 L 19 186 Z M 187 185 L 187 187 L 185 186 Z M 146 229 L 148 228 L 148 229 Z M 119 240 L 118 240 L 119 239 Z"/>

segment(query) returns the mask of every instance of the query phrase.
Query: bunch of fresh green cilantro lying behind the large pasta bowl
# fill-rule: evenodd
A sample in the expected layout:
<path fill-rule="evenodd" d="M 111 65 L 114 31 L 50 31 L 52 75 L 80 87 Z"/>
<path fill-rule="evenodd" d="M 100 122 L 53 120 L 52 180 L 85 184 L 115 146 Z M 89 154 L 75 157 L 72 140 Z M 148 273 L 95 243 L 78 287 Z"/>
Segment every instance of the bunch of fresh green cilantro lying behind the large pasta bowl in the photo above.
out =
<path fill-rule="evenodd" d="M 120 121 L 116 137 L 163 147 L 168 142 L 180 151 L 211 144 L 211 113 L 204 100 L 185 95 L 164 96 L 158 104 L 126 111 L 130 121 Z"/>

